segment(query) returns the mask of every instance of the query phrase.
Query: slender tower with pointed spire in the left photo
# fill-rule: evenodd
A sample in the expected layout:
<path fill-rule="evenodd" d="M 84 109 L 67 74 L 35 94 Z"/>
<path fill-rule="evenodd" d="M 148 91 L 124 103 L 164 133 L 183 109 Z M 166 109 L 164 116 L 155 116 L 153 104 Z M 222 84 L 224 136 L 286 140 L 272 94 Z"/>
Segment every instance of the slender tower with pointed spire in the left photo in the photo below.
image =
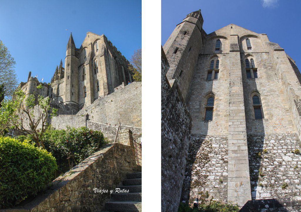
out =
<path fill-rule="evenodd" d="M 71 33 L 67 43 L 65 57 L 64 104 L 79 104 L 78 66 L 79 59 L 76 57 L 76 47 Z"/>

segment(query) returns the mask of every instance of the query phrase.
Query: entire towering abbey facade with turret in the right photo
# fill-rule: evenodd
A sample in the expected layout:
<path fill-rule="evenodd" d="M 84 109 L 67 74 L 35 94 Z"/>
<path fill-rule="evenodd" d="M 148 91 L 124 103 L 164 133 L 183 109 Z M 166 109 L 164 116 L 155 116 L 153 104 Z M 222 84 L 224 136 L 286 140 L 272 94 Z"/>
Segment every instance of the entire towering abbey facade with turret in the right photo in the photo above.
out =
<path fill-rule="evenodd" d="M 166 77 L 178 85 L 192 118 L 182 197 L 189 203 L 196 197 L 206 202 L 203 197 L 208 191 L 213 199 L 239 206 L 255 197 L 254 201 L 284 197 L 299 201 L 299 156 L 289 151 L 300 149 L 298 68 L 266 34 L 234 24 L 206 34 L 202 24 L 200 11 L 188 14 L 163 46 L 170 64 Z M 270 148 L 268 153 L 260 152 L 263 146 Z M 254 163 L 259 152 L 268 158 Z M 225 153 L 227 162 L 221 159 Z M 288 165 L 285 160 L 290 159 Z M 259 167 L 266 173 L 254 178 Z M 217 182 L 216 173 L 225 173 L 227 180 Z M 279 176 L 272 179 L 276 173 Z M 296 185 L 289 184 L 290 196 L 278 185 L 256 187 L 260 180 L 278 185 L 287 180 Z"/>

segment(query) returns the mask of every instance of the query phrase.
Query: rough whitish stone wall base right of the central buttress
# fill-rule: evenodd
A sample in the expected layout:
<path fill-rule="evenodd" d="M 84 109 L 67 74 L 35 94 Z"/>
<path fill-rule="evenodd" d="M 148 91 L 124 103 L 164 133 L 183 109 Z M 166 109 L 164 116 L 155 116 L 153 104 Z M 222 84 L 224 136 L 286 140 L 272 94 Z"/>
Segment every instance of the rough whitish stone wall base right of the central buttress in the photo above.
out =
<path fill-rule="evenodd" d="M 248 149 L 253 200 L 301 200 L 301 155 L 295 153 L 300 141 L 295 133 L 249 135 Z"/>

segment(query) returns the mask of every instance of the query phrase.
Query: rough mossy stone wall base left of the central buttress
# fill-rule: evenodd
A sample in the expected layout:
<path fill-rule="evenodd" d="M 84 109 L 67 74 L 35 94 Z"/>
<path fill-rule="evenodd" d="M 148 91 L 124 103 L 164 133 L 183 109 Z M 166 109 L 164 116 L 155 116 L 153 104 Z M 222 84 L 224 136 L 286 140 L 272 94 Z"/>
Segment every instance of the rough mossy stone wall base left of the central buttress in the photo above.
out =
<path fill-rule="evenodd" d="M 192 206 L 211 198 L 226 203 L 228 198 L 228 138 L 192 134 L 185 170 L 182 198 Z"/>

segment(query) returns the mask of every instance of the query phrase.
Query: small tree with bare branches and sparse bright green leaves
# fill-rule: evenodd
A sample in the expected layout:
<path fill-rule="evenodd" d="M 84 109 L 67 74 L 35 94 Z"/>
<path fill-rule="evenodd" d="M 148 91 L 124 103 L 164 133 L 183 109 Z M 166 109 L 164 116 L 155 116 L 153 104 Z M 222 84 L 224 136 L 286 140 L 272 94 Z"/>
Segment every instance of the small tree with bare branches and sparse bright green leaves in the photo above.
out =
<path fill-rule="evenodd" d="M 41 89 L 42 85 L 37 88 Z M 45 128 L 49 125 L 48 119 L 57 114 L 57 109 L 50 107 L 49 97 L 39 96 L 36 101 L 34 94 L 25 98 L 25 93 L 18 90 L 14 93 L 14 98 L 8 102 L 12 102 L 14 108 L 9 126 L 15 127 L 23 134 L 31 135 L 37 147 L 44 148 L 42 137 Z"/>

